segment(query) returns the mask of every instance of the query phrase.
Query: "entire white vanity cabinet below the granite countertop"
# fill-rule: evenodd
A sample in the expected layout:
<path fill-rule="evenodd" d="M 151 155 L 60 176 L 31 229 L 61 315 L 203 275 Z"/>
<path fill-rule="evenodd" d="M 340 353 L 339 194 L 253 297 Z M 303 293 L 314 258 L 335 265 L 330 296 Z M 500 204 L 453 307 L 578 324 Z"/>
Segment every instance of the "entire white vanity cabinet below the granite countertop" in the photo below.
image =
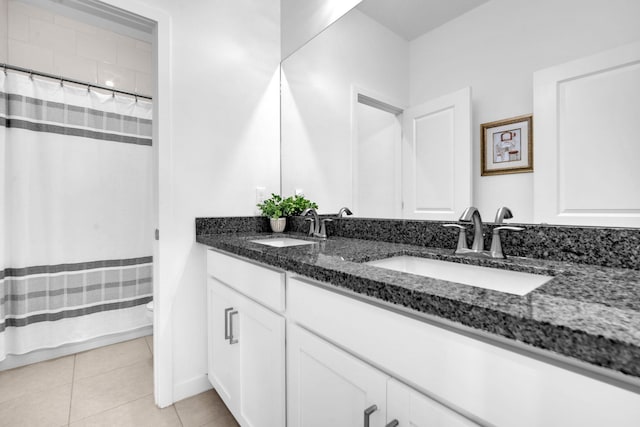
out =
<path fill-rule="evenodd" d="M 207 260 L 208 375 L 243 426 L 640 425 L 640 394 L 558 360 L 298 276 L 285 304 L 284 272 Z"/>

